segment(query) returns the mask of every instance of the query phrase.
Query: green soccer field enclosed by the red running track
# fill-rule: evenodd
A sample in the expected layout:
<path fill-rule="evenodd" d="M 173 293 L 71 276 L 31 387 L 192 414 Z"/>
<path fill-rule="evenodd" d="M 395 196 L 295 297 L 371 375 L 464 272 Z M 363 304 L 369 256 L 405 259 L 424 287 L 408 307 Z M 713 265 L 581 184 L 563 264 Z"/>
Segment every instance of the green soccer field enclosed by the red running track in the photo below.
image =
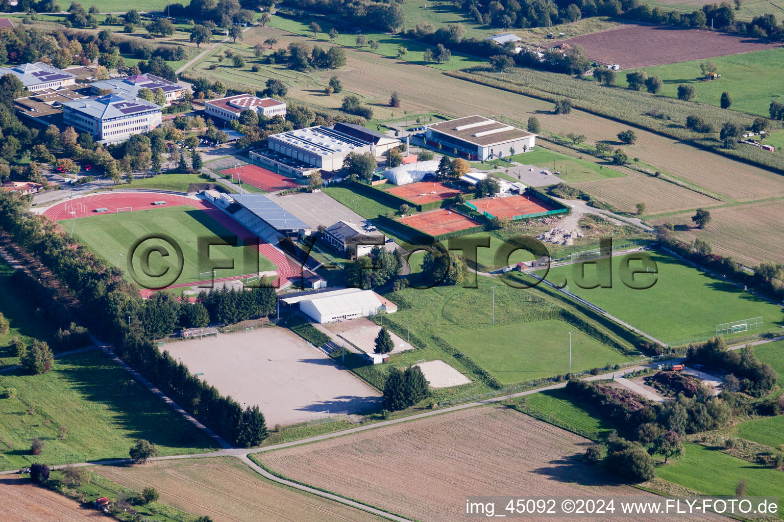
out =
<path fill-rule="evenodd" d="M 60 221 L 63 228 L 70 231 L 73 221 L 70 219 Z M 129 249 L 133 243 L 147 234 L 165 234 L 179 244 L 183 253 L 183 270 L 173 282 L 172 273 L 176 271 L 176 254 L 174 249 L 162 239 L 149 239 L 140 244 L 133 257 L 133 269 L 136 272 L 136 283 L 142 286 L 157 287 L 169 286 L 180 283 L 195 283 L 210 279 L 209 268 L 204 263 L 198 262 L 198 239 L 216 239 L 216 236 L 234 236 L 232 232 L 209 218 L 204 211 L 183 205 L 180 207 L 158 208 L 146 211 L 125 212 L 122 214 L 104 214 L 89 218 L 79 218 L 74 227 L 74 236 L 84 243 L 93 253 L 109 261 L 111 265 L 120 266 L 129 274 Z M 241 239 L 238 240 L 241 243 Z M 169 268 L 170 272 L 161 277 L 146 275 L 142 266 L 143 255 L 151 247 L 164 247 L 170 254 L 151 252 L 149 256 L 149 269 L 147 274 L 158 275 Z M 254 247 L 242 247 L 241 244 L 232 247 L 218 245 L 210 247 L 209 256 L 212 263 L 219 260 L 234 261 L 234 268 L 219 268 L 216 270 L 216 279 L 232 277 L 235 275 L 250 275 L 255 272 L 267 272 L 278 268 L 272 261 L 259 254 L 258 267 L 245 262 L 245 254 Z M 246 252 L 247 249 L 247 252 Z M 120 255 L 122 254 L 122 257 Z M 227 262 L 227 264 L 230 261 Z"/>

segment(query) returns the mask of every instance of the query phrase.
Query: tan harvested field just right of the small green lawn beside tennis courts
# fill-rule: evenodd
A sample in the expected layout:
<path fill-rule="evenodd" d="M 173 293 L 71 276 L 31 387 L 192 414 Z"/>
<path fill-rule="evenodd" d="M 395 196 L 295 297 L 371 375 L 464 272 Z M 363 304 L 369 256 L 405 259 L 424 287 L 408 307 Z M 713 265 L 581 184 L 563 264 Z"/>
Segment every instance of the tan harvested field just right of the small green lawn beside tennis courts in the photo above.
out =
<path fill-rule="evenodd" d="M 693 190 L 638 172 L 625 178 L 597 179 L 575 183 L 575 186 L 628 212 L 634 212 L 637 203 L 645 203 L 649 214 L 712 207 L 721 203 Z"/>

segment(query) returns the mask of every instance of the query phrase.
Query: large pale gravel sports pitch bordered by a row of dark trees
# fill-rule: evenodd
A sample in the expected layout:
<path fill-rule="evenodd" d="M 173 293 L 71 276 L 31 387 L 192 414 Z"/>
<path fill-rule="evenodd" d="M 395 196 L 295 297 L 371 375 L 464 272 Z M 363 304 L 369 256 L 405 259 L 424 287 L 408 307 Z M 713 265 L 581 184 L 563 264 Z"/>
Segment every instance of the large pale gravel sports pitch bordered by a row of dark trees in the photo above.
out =
<path fill-rule="evenodd" d="M 166 344 L 191 373 L 244 409 L 259 405 L 267 426 L 376 408 L 379 393 L 288 329 L 227 333 Z"/>

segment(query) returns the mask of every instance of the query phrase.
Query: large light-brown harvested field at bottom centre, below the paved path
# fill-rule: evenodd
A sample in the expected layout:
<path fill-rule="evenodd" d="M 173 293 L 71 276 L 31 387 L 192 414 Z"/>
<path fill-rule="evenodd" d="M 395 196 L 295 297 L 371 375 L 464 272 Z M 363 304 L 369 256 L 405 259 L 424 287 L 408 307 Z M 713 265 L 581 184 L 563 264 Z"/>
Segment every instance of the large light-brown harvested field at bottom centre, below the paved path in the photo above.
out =
<path fill-rule="evenodd" d="M 423 522 L 470 520 L 464 514 L 466 495 L 645 495 L 572 459 L 588 444 L 586 438 L 492 406 L 256 456 L 294 480 Z"/>

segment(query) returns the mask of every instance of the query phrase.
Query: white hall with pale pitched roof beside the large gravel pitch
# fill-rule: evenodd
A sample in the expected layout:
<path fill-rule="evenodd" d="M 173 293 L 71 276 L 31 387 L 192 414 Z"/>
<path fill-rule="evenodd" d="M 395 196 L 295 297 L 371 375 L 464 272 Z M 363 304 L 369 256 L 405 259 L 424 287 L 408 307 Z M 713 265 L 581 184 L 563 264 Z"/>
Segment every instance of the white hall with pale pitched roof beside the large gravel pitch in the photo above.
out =
<path fill-rule="evenodd" d="M 347 321 L 359 317 L 376 315 L 379 311 L 388 314 L 397 311 L 397 305 L 380 297 L 372 290 L 340 288 L 320 293 L 305 293 L 282 298 L 286 304 L 299 304 L 299 310 L 315 322 Z"/>

